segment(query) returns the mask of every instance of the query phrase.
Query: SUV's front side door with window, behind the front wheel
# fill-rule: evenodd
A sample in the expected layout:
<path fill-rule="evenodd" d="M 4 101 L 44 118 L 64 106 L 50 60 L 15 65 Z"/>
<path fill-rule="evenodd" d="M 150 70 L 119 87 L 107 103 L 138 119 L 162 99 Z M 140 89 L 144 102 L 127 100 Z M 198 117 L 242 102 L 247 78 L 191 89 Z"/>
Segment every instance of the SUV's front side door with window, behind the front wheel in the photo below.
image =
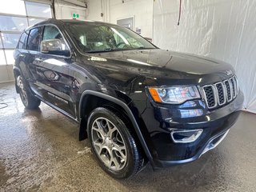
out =
<path fill-rule="evenodd" d="M 62 34 L 56 26 L 48 25 L 42 27 L 42 41 L 49 39 L 60 39 L 68 50 L 68 46 Z M 72 78 L 69 76 L 70 56 L 58 54 L 43 54 L 39 52 L 35 55 L 31 68 L 34 69 L 34 91 L 46 102 L 57 106 L 62 112 L 66 112 L 71 117 L 75 117 L 74 103 L 70 98 Z"/>

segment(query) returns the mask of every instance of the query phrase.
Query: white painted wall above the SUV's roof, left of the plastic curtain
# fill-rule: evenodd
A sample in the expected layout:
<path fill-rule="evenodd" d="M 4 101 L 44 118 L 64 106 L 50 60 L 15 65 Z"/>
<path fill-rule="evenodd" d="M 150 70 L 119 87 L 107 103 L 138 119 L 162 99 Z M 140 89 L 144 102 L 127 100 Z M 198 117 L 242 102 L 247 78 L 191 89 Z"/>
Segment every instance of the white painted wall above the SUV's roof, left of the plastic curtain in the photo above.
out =
<path fill-rule="evenodd" d="M 142 29 L 142 36 L 152 38 L 153 0 L 89 0 L 88 19 L 116 24 L 120 18 L 134 17 L 134 30 Z M 103 13 L 103 18 L 100 14 Z"/>

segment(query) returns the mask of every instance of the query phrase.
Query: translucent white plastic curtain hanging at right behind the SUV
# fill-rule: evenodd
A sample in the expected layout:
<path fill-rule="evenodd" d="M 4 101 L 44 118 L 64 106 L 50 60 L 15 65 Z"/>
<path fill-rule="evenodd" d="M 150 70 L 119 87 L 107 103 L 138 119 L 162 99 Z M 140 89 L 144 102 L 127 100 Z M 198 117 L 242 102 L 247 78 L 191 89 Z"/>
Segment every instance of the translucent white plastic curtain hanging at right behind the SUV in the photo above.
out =
<path fill-rule="evenodd" d="M 256 113 L 256 0 L 154 0 L 153 42 L 234 66 L 244 107 Z"/>

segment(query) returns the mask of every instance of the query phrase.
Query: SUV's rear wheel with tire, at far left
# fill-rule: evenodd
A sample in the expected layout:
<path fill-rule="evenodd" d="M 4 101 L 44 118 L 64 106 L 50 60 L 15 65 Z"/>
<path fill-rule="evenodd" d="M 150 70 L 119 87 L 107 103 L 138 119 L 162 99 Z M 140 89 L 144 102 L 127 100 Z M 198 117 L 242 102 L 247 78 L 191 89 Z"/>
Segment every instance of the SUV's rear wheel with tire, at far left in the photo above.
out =
<path fill-rule="evenodd" d="M 28 86 L 26 86 L 26 82 L 24 82 L 21 75 L 18 76 L 16 82 L 19 89 L 18 93 L 26 109 L 29 109 L 29 110 L 38 109 L 38 106 L 40 106 L 41 101 L 31 93 L 31 90 L 29 89 Z"/>

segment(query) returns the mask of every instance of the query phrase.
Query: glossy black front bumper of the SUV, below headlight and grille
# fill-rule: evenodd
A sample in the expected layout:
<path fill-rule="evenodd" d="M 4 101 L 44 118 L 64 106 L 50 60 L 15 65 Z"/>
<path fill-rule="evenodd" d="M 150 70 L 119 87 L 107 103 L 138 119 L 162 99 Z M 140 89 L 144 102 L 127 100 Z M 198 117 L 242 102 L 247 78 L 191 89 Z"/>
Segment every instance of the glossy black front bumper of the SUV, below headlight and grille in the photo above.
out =
<path fill-rule="evenodd" d="M 243 94 L 228 105 L 216 110 L 207 110 L 206 106 L 198 101 L 197 106 L 188 106 L 186 110 L 195 107 L 203 111 L 197 117 L 182 117 L 180 106 L 163 106 L 153 103 L 142 113 L 145 123 L 146 143 L 152 155 L 151 164 L 154 167 L 173 166 L 192 162 L 206 151 L 218 146 L 226 136 L 228 130 L 238 119 L 242 109 Z M 184 108 L 182 108 L 184 110 Z M 170 118 L 172 117 L 172 118 Z M 175 143 L 170 137 L 170 130 L 202 129 L 200 137 L 189 143 Z"/>

